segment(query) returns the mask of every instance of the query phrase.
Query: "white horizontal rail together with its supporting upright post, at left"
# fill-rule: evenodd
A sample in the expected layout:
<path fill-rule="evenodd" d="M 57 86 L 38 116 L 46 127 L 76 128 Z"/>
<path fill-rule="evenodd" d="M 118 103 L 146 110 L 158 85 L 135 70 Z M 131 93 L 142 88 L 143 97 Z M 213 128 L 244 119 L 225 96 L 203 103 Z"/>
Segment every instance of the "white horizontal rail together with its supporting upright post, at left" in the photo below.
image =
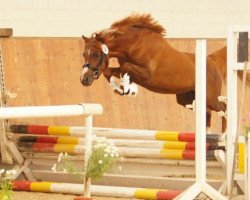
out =
<path fill-rule="evenodd" d="M 0 119 L 16 119 L 16 118 L 42 118 L 42 117 L 62 117 L 62 116 L 83 116 L 85 118 L 85 162 L 84 169 L 86 173 L 88 159 L 91 152 L 91 136 L 93 115 L 103 113 L 103 107 L 100 104 L 79 104 L 64 106 L 30 106 L 30 107 L 10 107 L 0 108 Z M 85 197 L 90 197 L 90 179 L 85 179 L 84 187 Z"/>

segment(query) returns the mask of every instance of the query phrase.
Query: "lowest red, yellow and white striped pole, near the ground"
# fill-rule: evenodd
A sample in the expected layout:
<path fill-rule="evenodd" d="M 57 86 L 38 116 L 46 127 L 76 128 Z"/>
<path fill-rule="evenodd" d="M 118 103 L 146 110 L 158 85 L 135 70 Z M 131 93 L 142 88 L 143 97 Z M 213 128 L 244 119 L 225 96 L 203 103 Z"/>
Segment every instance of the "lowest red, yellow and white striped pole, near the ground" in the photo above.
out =
<path fill-rule="evenodd" d="M 83 194 L 82 184 L 55 183 L 55 182 L 32 182 L 32 181 L 12 181 L 15 191 L 32 192 L 54 192 L 67 194 Z M 115 192 L 114 192 L 115 191 Z M 180 190 L 163 189 L 143 189 L 130 187 L 112 187 L 112 186 L 91 186 L 93 196 L 123 197 L 151 200 L 172 200 L 181 193 Z"/>

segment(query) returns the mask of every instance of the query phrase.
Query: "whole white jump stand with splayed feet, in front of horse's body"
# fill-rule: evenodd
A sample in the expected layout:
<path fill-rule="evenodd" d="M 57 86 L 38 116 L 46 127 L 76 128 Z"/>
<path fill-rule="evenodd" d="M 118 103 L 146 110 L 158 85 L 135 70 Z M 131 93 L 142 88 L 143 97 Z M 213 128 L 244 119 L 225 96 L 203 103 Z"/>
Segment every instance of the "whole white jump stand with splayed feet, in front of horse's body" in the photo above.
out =
<path fill-rule="evenodd" d="M 200 193 L 204 193 L 214 200 L 226 200 L 222 194 L 220 194 L 206 182 L 206 40 L 196 41 L 195 55 L 196 182 L 175 199 L 194 199 Z"/>

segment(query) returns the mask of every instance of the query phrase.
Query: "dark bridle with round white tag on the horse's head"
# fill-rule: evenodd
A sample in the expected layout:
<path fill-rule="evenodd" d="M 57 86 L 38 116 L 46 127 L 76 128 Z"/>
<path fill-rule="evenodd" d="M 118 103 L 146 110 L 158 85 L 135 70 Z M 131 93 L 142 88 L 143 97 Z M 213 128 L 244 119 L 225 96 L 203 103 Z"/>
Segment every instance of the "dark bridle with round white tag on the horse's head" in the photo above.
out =
<path fill-rule="evenodd" d="M 91 46 L 93 45 L 93 43 L 91 44 Z M 107 55 L 108 55 L 108 47 L 104 44 L 102 44 L 102 54 L 101 54 L 101 58 L 99 60 L 99 62 L 97 63 L 96 66 L 92 66 L 89 61 L 85 62 L 83 64 L 83 68 L 87 67 L 88 69 L 90 69 L 92 72 L 93 72 L 93 78 L 94 79 L 97 79 L 99 74 L 100 74 L 100 70 L 102 68 L 102 64 L 103 64 L 103 61 L 107 58 Z M 88 52 L 88 60 L 89 60 L 89 54 L 90 54 L 90 49 L 89 49 L 89 52 Z"/>

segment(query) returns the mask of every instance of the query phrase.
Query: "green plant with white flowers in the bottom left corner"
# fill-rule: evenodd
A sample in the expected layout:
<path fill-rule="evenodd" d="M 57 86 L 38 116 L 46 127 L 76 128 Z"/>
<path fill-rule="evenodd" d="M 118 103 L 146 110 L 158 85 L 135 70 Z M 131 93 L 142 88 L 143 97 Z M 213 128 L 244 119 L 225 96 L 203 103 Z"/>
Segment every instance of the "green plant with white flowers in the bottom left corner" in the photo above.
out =
<path fill-rule="evenodd" d="M 1 181 L 0 181 L 0 199 L 1 200 L 10 200 L 12 195 L 12 183 L 10 177 L 16 174 L 15 170 L 7 170 L 5 173 L 5 169 L 0 170 Z"/>

